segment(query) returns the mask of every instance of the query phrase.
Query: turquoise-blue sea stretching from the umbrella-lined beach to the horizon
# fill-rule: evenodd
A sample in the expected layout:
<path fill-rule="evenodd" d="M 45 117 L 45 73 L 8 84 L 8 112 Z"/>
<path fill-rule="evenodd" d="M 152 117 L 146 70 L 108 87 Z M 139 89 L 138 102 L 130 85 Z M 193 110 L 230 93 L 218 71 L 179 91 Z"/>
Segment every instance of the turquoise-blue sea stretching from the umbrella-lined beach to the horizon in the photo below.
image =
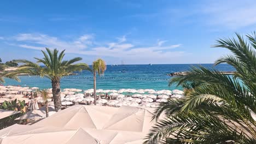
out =
<path fill-rule="evenodd" d="M 153 64 L 153 65 L 107 65 L 104 76 L 97 77 L 97 89 L 182 89 L 181 87 L 168 87 L 168 81 L 172 78 L 168 73 L 186 71 L 191 65 L 197 64 Z M 207 68 L 213 68 L 213 64 L 201 64 Z M 228 64 L 220 64 L 214 67 L 221 71 L 234 71 Z M 82 71 L 78 75 L 65 76 L 61 79 L 61 88 L 93 88 L 93 78 L 89 71 Z M 50 88 L 51 82 L 45 77 L 19 76 L 21 82 L 6 79 L 4 85 L 21 85 L 29 87 Z"/>

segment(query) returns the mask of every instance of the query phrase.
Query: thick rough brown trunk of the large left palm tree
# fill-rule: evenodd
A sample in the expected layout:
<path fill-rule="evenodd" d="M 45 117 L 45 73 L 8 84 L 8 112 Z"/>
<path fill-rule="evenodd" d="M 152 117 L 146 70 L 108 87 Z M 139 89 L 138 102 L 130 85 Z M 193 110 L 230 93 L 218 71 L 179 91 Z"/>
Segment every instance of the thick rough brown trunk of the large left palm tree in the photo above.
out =
<path fill-rule="evenodd" d="M 51 86 L 53 87 L 53 99 L 55 111 L 61 110 L 61 97 L 60 97 L 60 81 L 51 81 Z"/>

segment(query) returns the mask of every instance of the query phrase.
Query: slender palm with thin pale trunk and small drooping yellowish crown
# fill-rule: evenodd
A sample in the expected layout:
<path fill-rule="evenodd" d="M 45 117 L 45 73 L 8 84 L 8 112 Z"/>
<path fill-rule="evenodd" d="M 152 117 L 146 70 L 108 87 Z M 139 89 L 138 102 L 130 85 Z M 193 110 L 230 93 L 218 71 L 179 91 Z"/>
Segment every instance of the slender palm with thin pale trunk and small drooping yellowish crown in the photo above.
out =
<path fill-rule="evenodd" d="M 107 65 L 106 65 L 106 62 L 103 59 L 98 58 L 96 61 L 92 62 L 91 71 L 94 74 L 94 104 L 95 105 L 96 105 L 96 98 L 97 98 L 97 94 L 96 94 L 96 75 L 97 75 L 97 73 L 98 73 L 98 75 L 104 74 L 104 71 L 106 69 L 107 69 Z"/>

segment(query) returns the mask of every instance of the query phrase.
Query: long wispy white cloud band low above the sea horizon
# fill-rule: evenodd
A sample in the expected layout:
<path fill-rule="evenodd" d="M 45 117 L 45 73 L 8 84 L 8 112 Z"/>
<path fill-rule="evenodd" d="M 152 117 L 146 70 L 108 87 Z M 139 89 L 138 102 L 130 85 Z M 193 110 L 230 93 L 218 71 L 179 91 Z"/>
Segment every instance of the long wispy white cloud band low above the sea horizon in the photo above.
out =
<path fill-rule="evenodd" d="M 57 48 L 59 50 L 66 49 L 67 53 L 77 53 L 80 55 L 90 55 L 96 57 L 114 57 L 126 59 L 139 59 L 143 61 L 153 61 L 158 58 L 170 59 L 170 57 L 183 56 L 183 51 L 170 51 L 181 44 L 162 46 L 167 41 L 159 41 L 158 44 L 152 46 L 136 46 L 132 43 L 127 43 L 125 36 L 118 38 L 117 41 L 98 45 L 94 41 L 92 35 L 82 35 L 73 41 L 62 40 L 57 37 L 51 37 L 46 34 L 18 34 L 13 37 L 16 46 L 26 49 L 42 50 L 44 47 Z M 97 45 L 95 45 L 97 43 Z M 148 44 L 147 44 L 148 45 Z M 142 60 L 142 59 L 141 59 Z"/>

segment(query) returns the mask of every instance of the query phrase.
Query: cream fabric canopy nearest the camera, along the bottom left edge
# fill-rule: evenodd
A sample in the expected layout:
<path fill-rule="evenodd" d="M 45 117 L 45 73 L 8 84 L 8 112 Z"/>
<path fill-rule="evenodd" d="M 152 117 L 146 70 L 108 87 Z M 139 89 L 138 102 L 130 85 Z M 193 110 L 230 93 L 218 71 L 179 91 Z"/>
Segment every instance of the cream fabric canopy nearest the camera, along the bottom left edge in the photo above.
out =
<path fill-rule="evenodd" d="M 97 130 L 79 128 L 77 130 L 64 130 L 54 127 L 38 127 L 35 125 L 14 124 L 0 130 L 1 144 L 119 144 L 119 143 L 142 143 L 147 133 Z"/>

